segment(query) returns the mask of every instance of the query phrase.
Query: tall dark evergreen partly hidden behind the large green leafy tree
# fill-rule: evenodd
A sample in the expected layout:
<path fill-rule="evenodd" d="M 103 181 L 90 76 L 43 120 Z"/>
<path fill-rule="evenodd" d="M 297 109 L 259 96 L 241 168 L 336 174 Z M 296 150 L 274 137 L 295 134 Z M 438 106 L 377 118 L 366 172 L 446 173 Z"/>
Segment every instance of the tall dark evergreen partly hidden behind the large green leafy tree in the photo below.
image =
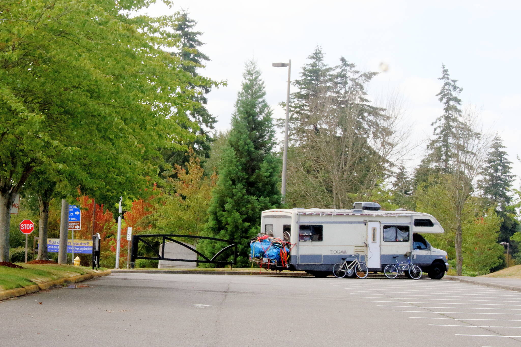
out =
<path fill-rule="evenodd" d="M 204 66 L 206 61 L 209 61 L 207 55 L 200 51 L 200 47 L 204 45 L 199 40 L 199 36 L 202 35 L 200 31 L 194 31 L 194 27 L 197 24 L 196 21 L 189 18 L 189 14 L 186 11 L 182 11 L 176 18 L 177 25 L 175 32 L 179 35 L 180 39 L 180 50 L 179 52 L 172 53 L 182 59 L 182 69 L 190 73 L 194 78 L 197 78 L 197 68 Z M 190 112 L 190 120 L 196 123 L 195 129 L 192 130 L 196 135 L 195 139 L 185 140 L 187 148 L 192 147 L 197 157 L 201 158 L 204 162 L 204 158 L 209 157 L 210 145 L 212 143 L 212 136 L 208 130 L 214 128 L 216 122 L 215 117 L 208 112 L 206 109 L 207 98 L 206 94 L 210 92 L 210 85 L 195 85 L 189 84 L 189 89 L 192 89 L 194 94 L 191 98 L 194 101 L 199 102 L 199 105 L 195 106 Z M 188 163 L 188 149 L 187 150 L 163 150 L 163 157 L 165 162 L 170 165 L 185 164 Z M 167 170 L 164 174 L 172 174 L 172 170 Z"/>

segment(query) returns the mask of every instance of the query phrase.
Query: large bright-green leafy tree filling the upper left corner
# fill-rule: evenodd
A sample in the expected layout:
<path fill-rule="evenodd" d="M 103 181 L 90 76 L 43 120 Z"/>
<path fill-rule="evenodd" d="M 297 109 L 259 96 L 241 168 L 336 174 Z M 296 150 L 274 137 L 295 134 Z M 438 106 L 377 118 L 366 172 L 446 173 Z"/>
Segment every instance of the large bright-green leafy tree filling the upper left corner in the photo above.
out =
<path fill-rule="evenodd" d="M 143 186 L 157 148 L 195 138 L 193 86 L 215 83 L 166 52 L 179 48 L 175 17 L 130 15 L 151 3 L 0 3 L 0 261 L 9 258 L 9 207 L 36 169 L 82 167 L 82 185 L 114 201 L 117 190 Z"/>

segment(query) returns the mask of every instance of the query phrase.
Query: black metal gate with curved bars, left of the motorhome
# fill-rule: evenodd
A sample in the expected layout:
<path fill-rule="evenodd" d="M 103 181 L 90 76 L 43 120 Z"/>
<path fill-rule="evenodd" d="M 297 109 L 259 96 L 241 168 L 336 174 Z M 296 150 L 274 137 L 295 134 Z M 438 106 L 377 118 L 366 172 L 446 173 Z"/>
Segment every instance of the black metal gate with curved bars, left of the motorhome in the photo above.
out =
<path fill-rule="evenodd" d="M 150 239 L 153 238 L 162 238 L 162 242 L 159 245 L 161 251 L 159 252 L 159 245 L 156 247 L 151 245 Z M 214 254 L 212 258 L 208 258 L 203 253 L 197 251 L 195 248 L 192 248 L 188 245 L 185 245 L 183 242 L 176 240 L 175 238 L 191 238 L 191 239 L 205 239 L 205 240 L 213 240 L 213 241 L 221 241 L 228 243 L 228 246 L 222 248 L 220 251 Z M 166 241 L 176 242 L 179 245 L 186 247 L 199 255 L 202 259 L 177 259 L 177 258 L 165 258 L 165 242 Z M 140 256 L 138 255 L 139 243 L 144 243 L 144 245 L 148 246 L 152 252 L 154 252 L 157 256 Z M 233 262 L 229 261 L 218 261 L 217 257 L 226 251 L 233 251 Z M 237 264 L 237 242 L 231 240 L 217 239 L 215 237 L 206 237 L 206 236 L 194 236 L 194 235 L 178 235 L 178 234 L 160 234 L 160 235 L 132 235 L 132 252 L 130 255 L 130 266 L 134 268 L 136 259 L 150 259 L 150 260 L 169 260 L 169 261 L 181 261 L 181 262 L 192 262 L 192 263 L 208 263 L 208 264 L 217 264 L 217 265 L 235 265 Z"/>

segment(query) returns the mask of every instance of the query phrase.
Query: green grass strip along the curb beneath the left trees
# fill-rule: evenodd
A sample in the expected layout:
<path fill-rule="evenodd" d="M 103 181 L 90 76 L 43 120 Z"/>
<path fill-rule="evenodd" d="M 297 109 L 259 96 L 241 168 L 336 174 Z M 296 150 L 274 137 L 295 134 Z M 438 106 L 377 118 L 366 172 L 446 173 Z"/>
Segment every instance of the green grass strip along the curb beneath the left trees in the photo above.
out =
<path fill-rule="evenodd" d="M 82 266 L 17 263 L 24 268 L 0 266 L 0 290 L 22 288 L 64 277 L 95 273 Z"/>

